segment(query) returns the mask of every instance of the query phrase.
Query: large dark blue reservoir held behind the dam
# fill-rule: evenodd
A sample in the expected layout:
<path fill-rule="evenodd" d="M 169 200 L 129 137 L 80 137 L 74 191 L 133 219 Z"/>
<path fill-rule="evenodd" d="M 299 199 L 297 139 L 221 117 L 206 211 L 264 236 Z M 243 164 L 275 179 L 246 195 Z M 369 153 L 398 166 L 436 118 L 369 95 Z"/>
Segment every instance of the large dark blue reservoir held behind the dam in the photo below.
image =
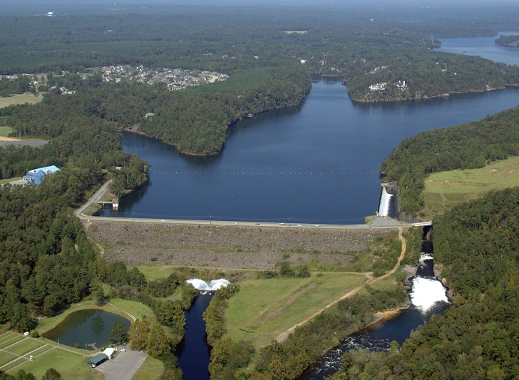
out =
<path fill-rule="evenodd" d="M 518 90 L 428 101 L 351 103 L 339 82 L 314 81 L 301 106 L 237 123 L 222 154 L 180 155 L 125 133 L 151 164 L 150 183 L 101 215 L 159 219 L 356 224 L 374 215 L 379 165 L 402 139 L 519 104 Z"/>

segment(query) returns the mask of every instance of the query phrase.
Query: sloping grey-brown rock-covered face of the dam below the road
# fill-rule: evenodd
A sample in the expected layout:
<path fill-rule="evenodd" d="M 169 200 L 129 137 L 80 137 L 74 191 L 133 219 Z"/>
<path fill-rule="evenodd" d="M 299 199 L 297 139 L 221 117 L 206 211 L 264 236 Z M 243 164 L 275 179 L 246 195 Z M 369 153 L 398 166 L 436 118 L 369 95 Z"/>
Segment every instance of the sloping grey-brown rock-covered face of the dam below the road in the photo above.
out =
<path fill-rule="evenodd" d="M 310 269 L 340 268 L 391 230 L 173 225 L 85 220 L 108 261 L 126 265 L 274 269 L 287 257 Z"/>

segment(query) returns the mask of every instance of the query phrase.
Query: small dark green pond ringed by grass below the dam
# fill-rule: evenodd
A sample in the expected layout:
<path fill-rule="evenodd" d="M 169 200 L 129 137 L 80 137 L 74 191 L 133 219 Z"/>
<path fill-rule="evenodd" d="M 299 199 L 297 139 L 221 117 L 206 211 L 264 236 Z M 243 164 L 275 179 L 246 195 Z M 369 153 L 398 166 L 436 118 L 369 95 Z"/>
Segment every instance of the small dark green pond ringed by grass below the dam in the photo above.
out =
<path fill-rule="evenodd" d="M 130 321 L 119 315 L 101 309 L 80 310 L 69 314 L 61 324 L 43 334 L 43 337 L 81 349 L 92 349 L 87 344 L 95 343 L 99 349 L 111 344 L 108 334 L 112 324 L 117 321 L 123 321 L 127 328 L 130 327 Z"/>

